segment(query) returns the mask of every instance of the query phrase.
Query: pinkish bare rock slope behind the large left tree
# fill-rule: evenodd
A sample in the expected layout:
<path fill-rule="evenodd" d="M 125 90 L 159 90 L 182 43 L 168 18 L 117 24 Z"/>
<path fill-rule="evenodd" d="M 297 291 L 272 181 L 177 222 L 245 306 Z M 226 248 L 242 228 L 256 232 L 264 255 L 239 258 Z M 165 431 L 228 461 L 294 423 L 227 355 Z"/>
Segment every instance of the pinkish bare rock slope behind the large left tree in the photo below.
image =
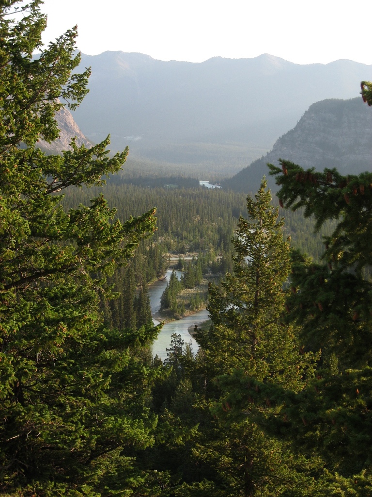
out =
<path fill-rule="evenodd" d="M 67 109 L 62 109 L 55 115 L 58 127 L 61 130 L 60 138 L 52 143 L 48 143 L 45 140 L 40 140 L 37 144 L 39 148 L 47 152 L 48 154 L 59 154 L 62 150 L 71 150 L 70 142 L 71 138 L 76 136 L 76 144 L 84 144 L 87 148 L 90 148 L 93 144 L 85 138 L 81 132 L 78 125 L 75 123 L 71 112 Z"/>

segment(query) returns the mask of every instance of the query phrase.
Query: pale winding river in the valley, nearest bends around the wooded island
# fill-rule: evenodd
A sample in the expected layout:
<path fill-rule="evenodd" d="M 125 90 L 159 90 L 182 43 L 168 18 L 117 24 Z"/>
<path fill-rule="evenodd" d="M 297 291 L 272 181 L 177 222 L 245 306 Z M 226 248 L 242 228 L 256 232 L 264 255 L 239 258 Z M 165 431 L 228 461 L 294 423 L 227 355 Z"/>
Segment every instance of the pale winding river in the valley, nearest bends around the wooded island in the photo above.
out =
<path fill-rule="evenodd" d="M 176 271 L 176 272 L 177 272 L 177 277 L 180 278 L 181 271 Z M 151 304 L 151 313 L 153 315 L 156 314 L 160 309 L 160 298 L 165 290 L 165 287 L 167 286 L 167 282 L 169 281 L 171 274 L 172 274 L 172 269 L 168 269 L 164 280 L 156 281 L 155 283 L 152 283 L 151 285 L 148 286 L 148 293 Z M 158 337 L 156 338 L 156 340 L 154 340 L 152 344 L 152 355 L 153 356 L 158 355 L 162 360 L 167 358 L 166 348 L 169 347 L 171 343 L 172 333 L 177 333 L 178 335 L 181 335 L 181 338 L 184 341 L 186 341 L 186 343 L 191 341 L 192 350 L 193 352 L 196 352 L 197 349 L 199 348 L 199 345 L 188 332 L 188 328 L 190 326 L 193 327 L 195 324 L 199 325 L 200 323 L 206 321 L 207 319 L 208 319 L 208 311 L 206 309 L 203 309 L 194 314 L 190 314 L 185 318 L 166 323 L 163 326 L 162 330 L 160 331 Z M 155 325 L 159 324 L 159 321 L 156 321 L 155 319 L 153 319 L 153 321 Z"/>

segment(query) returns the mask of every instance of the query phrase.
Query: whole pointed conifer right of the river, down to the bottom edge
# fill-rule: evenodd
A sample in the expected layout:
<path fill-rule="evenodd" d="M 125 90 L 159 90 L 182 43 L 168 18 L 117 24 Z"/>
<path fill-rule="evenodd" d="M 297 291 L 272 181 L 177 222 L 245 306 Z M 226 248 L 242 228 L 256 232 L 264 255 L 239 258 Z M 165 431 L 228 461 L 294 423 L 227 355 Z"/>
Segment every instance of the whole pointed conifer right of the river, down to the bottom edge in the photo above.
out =
<path fill-rule="evenodd" d="M 209 387 L 210 403 L 219 423 L 195 448 L 217 475 L 205 484 L 206 495 L 316 495 L 311 482 L 317 462 L 291 452 L 281 418 L 279 426 L 272 424 L 283 407 L 275 392 L 301 391 L 313 374 L 314 356 L 303 352 L 283 322 L 290 247 L 265 188 L 263 180 L 255 200 L 247 198 L 249 217 L 240 217 L 233 242 L 233 274 L 221 288 L 210 285 L 212 326 L 197 337 L 206 374 L 216 382 Z M 203 495 L 200 484 L 184 489 L 183 495 Z"/>

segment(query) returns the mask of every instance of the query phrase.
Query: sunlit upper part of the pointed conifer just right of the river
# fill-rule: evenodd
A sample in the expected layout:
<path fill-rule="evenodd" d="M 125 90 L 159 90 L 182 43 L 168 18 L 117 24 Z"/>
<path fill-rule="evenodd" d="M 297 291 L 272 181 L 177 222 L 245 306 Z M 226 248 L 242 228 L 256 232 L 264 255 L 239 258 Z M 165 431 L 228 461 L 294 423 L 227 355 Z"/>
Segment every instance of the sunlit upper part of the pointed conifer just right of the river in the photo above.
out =
<path fill-rule="evenodd" d="M 209 286 L 213 326 L 199 340 L 216 374 L 239 368 L 257 380 L 295 387 L 303 373 L 293 331 L 282 319 L 290 246 L 283 240 L 284 219 L 278 221 L 265 187 L 263 180 L 255 201 L 248 196 L 248 220 L 239 219 L 233 274 L 221 288 Z"/>

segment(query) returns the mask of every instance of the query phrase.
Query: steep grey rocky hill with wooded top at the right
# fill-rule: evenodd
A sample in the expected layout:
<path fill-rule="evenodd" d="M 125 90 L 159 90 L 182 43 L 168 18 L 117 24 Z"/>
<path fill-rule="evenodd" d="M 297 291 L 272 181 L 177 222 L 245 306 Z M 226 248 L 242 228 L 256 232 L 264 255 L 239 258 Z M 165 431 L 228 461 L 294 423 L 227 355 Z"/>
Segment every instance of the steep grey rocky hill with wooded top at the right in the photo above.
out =
<path fill-rule="evenodd" d="M 255 191 L 267 163 L 287 159 L 305 168 L 337 167 L 343 174 L 372 170 L 372 109 L 362 98 L 313 103 L 295 128 L 276 141 L 265 157 L 224 183 L 237 191 Z M 274 187 L 269 180 L 269 186 Z"/>

